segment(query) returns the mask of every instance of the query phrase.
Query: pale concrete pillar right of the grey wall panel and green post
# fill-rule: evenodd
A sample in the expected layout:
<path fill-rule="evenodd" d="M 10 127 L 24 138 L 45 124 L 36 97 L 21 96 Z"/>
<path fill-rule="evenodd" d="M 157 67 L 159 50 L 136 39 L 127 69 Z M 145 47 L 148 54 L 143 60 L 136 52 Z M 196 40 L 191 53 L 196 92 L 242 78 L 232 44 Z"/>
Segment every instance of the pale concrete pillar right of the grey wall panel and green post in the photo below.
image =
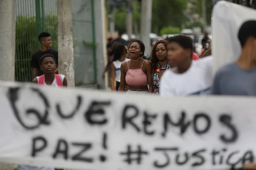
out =
<path fill-rule="evenodd" d="M 97 84 L 100 89 L 107 87 L 108 79 L 102 80 L 101 75 L 107 61 L 105 32 L 105 1 L 94 1 L 95 43 L 97 61 Z"/>

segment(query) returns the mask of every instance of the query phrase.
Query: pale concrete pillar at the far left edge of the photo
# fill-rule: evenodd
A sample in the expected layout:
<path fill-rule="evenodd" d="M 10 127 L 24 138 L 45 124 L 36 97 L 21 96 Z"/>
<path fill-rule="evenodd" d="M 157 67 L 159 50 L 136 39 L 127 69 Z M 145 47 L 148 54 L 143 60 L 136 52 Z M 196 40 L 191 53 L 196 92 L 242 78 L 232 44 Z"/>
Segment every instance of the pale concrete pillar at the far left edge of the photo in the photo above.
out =
<path fill-rule="evenodd" d="M 16 0 L 0 0 L 0 80 L 15 80 Z M 0 169 L 4 169 L 0 165 Z"/>

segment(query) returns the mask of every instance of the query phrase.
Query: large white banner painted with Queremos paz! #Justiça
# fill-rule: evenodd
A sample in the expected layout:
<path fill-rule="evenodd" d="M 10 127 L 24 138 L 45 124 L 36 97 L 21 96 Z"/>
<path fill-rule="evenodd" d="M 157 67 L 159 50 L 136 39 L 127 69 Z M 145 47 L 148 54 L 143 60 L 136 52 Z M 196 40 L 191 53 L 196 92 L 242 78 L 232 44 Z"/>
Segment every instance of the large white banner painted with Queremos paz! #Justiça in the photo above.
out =
<path fill-rule="evenodd" d="M 91 170 L 237 168 L 255 157 L 255 103 L 1 82 L 0 161 Z"/>

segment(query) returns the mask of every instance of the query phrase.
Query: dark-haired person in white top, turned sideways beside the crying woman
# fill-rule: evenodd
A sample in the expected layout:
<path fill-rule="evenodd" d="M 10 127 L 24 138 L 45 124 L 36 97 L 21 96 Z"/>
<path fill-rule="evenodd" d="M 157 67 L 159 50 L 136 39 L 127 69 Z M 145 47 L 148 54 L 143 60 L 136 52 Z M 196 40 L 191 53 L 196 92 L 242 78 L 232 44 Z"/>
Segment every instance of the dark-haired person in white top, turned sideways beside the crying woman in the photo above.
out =
<path fill-rule="evenodd" d="M 111 89 L 117 91 L 120 85 L 121 71 L 120 67 L 123 62 L 129 61 L 128 59 L 128 48 L 124 44 L 119 44 L 116 46 L 114 51 L 114 58 L 111 64 Z M 116 88 L 115 88 L 116 81 Z"/>

